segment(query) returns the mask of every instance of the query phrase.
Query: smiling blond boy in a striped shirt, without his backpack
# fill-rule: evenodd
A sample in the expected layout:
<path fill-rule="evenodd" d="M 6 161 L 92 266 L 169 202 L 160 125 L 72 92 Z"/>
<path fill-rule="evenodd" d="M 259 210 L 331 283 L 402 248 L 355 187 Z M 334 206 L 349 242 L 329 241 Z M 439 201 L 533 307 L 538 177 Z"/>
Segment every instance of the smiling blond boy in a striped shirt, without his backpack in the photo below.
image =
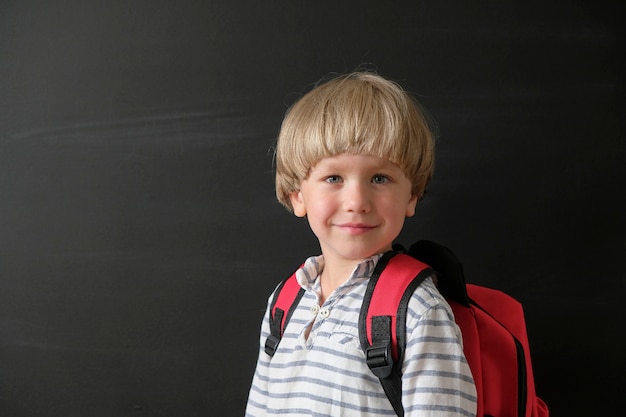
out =
<path fill-rule="evenodd" d="M 246 416 L 393 416 L 359 344 L 368 279 L 413 216 L 434 161 L 417 103 L 373 73 L 332 79 L 288 111 L 276 193 L 306 217 L 321 255 L 297 271 L 306 290 L 274 356 L 268 312 Z M 449 305 L 431 278 L 414 292 L 402 363 L 405 416 L 474 416 L 476 390 Z"/>

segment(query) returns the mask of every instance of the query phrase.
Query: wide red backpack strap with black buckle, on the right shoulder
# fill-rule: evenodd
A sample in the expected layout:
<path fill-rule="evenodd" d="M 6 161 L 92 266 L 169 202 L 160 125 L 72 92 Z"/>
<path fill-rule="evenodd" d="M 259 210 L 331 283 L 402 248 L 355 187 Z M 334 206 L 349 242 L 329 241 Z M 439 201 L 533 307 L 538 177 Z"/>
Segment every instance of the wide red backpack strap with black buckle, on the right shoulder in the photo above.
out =
<path fill-rule="evenodd" d="M 396 414 L 402 407 L 401 364 L 406 347 L 406 314 L 415 289 L 431 274 L 430 267 L 408 255 L 387 252 L 376 264 L 359 315 L 359 338 L 367 365 Z"/>

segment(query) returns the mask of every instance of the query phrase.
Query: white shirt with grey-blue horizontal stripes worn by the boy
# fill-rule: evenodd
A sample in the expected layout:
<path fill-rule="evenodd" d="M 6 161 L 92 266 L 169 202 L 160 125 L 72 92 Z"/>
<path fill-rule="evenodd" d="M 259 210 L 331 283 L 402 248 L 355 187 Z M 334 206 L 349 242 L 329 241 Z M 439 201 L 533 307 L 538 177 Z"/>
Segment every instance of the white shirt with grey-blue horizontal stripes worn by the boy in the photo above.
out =
<path fill-rule="evenodd" d="M 323 257 L 309 258 L 296 272 L 306 292 L 273 357 L 264 351 L 270 334 L 269 310 L 265 313 L 247 417 L 395 415 L 380 381 L 365 362 L 358 336 L 361 303 L 379 259 L 375 255 L 360 263 L 322 306 Z M 431 278 L 415 290 L 409 302 L 406 334 L 405 416 L 474 416 L 476 388 L 460 331 Z"/>

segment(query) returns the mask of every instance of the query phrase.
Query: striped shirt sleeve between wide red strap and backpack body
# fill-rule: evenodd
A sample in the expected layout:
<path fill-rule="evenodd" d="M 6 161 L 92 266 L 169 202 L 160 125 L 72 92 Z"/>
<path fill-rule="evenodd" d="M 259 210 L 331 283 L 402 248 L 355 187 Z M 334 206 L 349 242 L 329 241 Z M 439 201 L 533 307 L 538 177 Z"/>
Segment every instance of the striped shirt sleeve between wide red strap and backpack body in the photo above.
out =
<path fill-rule="evenodd" d="M 476 387 L 452 310 L 432 281 L 418 287 L 407 313 L 402 372 L 406 417 L 473 417 Z"/>

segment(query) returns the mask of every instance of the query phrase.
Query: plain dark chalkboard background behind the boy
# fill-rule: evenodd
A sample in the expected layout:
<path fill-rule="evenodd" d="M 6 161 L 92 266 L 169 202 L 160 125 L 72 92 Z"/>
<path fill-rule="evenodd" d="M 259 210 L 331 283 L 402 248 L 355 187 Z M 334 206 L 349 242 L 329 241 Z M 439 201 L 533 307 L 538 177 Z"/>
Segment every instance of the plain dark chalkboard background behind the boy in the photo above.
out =
<path fill-rule="evenodd" d="M 0 415 L 242 415 L 282 116 L 366 64 L 437 120 L 400 240 L 521 300 L 553 416 L 623 411 L 619 1 L 0 2 Z"/>

